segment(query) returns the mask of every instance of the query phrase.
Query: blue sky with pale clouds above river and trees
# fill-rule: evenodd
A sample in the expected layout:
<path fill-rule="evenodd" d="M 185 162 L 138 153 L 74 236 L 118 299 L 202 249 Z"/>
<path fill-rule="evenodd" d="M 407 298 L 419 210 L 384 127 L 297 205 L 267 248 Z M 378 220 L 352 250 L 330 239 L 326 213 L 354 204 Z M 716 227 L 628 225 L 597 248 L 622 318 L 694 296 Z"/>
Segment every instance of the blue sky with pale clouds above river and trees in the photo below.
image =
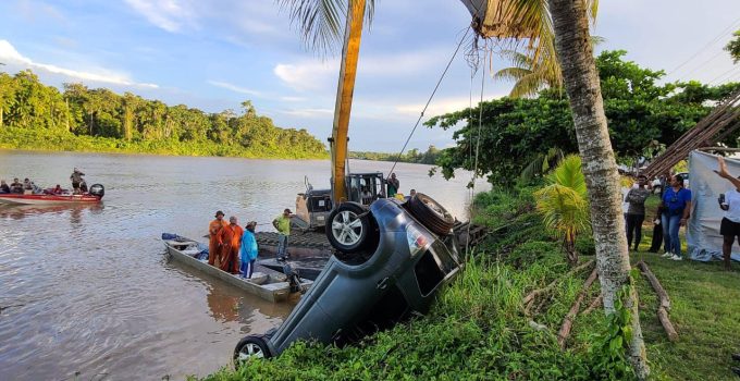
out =
<path fill-rule="evenodd" d="M 281 127 L 331 136 L 337 54 L 308 50 L 273 0 L 2 0 L 0 70 L 42 82 L 82 82 L 207 112 L 251 100 Z M 377 0 L 362 35 L 349 149 L 397 152 L 414 128 L 470 14 L 458 0 Z M 666 81 L 740 81 L 723 47 L 740 29 L 738 0 L 601 1 L 596 49 L 666 71 Z M 473 71 L 464 44 L 421 121 L 505 96 L 511 83 Z M 408 148 L 454 145 L 453 131 L 420 125 Z"/>

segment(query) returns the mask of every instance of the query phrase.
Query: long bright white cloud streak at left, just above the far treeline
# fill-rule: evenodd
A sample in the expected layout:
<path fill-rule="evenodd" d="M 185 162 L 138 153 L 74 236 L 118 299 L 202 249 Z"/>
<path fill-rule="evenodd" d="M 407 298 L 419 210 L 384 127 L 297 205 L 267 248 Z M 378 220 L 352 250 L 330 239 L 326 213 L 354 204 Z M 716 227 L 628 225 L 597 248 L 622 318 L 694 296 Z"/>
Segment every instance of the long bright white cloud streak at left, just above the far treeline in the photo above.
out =
<path fill-rule="evenodd" d="M 104 69 L 95 69 L 92 71 L 77 71 L 72 69 L 60 67 L 53 64 L 34 62 L 32 59 L 22 56 L 15 48 L 7 40 L 0 39 L 0 61 L 8 64 L 17 64 L 27 69 L 36 69 L 53 74 L 61 74 L 64 76 L 86 79 L 91 82 L 101 82 L 115 85 L 137 86 L 157 88 L 155 84 L 145 84 L 133 82 L 128 76 L 115 73 Z"/>

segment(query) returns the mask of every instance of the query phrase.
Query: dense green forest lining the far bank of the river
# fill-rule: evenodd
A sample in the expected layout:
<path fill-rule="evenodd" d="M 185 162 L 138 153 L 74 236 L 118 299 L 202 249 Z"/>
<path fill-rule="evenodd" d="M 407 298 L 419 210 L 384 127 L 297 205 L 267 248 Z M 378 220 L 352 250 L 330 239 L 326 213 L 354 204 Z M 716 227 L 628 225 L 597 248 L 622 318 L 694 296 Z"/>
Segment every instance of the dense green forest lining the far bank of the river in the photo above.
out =
<path fill-rule="evenodd" d="M 0 73 L 0 147 L 194 156 L 322 158 L 306 130 L 276 127 L 250 101 L 206 113 L 126 93 L 45 86 L 30 71 Z"/>

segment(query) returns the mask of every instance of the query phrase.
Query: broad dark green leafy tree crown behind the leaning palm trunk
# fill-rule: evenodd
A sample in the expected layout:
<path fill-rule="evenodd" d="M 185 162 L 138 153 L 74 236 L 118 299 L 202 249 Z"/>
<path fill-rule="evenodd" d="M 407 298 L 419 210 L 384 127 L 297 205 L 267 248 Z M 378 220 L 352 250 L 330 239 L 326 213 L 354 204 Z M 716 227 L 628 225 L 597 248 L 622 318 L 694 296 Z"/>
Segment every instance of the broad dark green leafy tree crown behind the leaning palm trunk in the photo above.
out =
<path fill-rule="evenodd" d="M 663 71 L 624 61 L 625 53 L 605 51 L 596 59 L 612 145 L 620 162 L 654 156 L 705 116 L 712 101 L 740 87 L 737 83 L 716 87 L 696 82 L 661 85 Z M 553 148 L 565 153 L 578 151 L 568 99 L 558 91 L 543 90 L 533 99 L 504 97 L 481 107 L 478 171 L 494 184 L 513 184 L 528 164 Z M 462 124 L 453 135 L 457 146 L 443 150 L 437 159 L 446 177 L 457 168 L 473 169 L 479 114 L 477 107 L 425 123 L 442 128 Z M 731 134 L 724 143 L 736 147 L 739 135 Z"/>

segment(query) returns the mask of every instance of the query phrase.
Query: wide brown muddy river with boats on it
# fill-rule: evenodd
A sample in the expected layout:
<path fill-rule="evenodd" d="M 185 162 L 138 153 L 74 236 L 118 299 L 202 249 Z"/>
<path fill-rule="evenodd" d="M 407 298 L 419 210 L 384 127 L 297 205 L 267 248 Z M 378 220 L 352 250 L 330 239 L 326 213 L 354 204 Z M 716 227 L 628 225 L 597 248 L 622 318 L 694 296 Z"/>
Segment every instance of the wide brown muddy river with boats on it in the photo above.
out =
<path fill-rule="evenodd" d="M 356 172 L 391 165 L 349 163 Z M 304 175 L 328 187 L 329 161 L 0 150 L 9 183 L 69 187 L 74 167 L 106 186 L 102 205 L 0 207 L 0 380 L 206 376 L 229 365 L 240 337 L 289 314 L 291 304 L 168 262 L 160 235 L 201 237 L 219 209 L 272 230 L 294 209 Z M 467 220 L 470 174 L 447 182 L 429 169 L 399 163 L 402 192 L 427 193 Z"/>

